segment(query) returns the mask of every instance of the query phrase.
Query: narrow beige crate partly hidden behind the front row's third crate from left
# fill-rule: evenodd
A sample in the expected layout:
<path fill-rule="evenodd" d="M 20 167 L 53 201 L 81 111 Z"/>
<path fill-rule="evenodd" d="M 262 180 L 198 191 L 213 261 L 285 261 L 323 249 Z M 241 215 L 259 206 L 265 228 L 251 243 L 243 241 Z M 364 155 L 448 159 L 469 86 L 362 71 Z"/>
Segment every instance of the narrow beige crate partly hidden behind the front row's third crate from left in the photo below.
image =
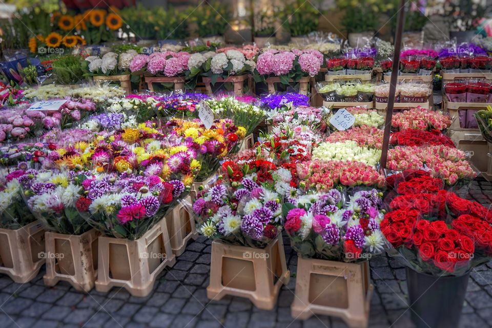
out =
<path fill-rule="evenodd" d="M 191 197 L 188 196 L 165 216 L 171 249 L 176 256 L 185 252 L 189 240 L 198 238 L 191 211 Z"/>

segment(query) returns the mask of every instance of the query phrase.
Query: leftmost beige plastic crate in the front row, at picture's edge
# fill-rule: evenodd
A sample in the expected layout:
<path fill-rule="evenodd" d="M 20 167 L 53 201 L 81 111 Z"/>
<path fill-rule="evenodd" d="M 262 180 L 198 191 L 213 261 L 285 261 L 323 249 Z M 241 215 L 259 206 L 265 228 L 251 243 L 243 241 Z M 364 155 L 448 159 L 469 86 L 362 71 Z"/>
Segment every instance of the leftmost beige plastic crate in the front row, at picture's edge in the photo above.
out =
<path fill-rule="evenodd" d="M 0 273 L 17 283 L 32 280 L 45 263 L 45 228 L 34 221 L 10 230 L 0 229 Z"/>

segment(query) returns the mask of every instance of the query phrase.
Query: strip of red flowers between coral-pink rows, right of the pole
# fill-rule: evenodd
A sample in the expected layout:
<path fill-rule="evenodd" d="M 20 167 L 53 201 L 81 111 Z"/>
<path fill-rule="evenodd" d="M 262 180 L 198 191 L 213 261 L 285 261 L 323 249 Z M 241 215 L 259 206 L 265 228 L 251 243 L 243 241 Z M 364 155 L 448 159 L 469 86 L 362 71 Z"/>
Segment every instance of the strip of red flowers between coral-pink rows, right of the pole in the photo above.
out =
<path fill-rule="evenodd" d="M 408 129 L 394 132 L 389 142 L 394 146 L 444 145 L 455 148 L 453 140 L 436 129 L 430 131 Z"/>

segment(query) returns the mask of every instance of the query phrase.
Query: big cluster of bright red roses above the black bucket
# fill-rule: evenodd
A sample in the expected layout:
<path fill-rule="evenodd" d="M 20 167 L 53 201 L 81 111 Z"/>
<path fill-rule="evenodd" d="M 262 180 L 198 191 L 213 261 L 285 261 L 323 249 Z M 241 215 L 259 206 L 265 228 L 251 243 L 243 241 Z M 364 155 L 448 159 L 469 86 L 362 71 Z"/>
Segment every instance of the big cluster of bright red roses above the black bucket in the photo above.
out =
<path fill-rule="evenodd" d="M 413 250 L 450 273 L 466 266 L 476 248 L 492 254 L 492 211 L 443 190 L 442 180 L 425 171 L 406 170 L 387 183 L 398 195 L 389 203 L 381 231 L 395 248 Z M 449 214 L 455 217 L 450 227 Z"/>

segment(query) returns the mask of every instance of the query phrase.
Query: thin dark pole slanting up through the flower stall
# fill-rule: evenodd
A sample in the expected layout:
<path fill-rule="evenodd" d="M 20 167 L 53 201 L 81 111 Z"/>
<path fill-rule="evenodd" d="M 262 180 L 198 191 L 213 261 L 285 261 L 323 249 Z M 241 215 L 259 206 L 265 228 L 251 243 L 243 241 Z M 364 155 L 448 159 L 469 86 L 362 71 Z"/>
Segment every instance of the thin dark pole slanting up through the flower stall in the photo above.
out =
<path fill-rule="evenodd" d="M 391 120 L 393 118 L 393 107 L 395 104 L 396 85 L 398 83 L 398 71 L 400 64 L 401 38 L 403 26 L 405 25 L 405 0 L 400 0 L 398 8 L 398 24 L 395 34 L 395 54 L 393 56 L 393 68 L 389 81 L 388 107 L 386 109 L 386 121 L 384 124 L 383 148 L 381 152 L 381 170 L 386 168 L 388 158 L 389 133 L 391 132 Z"/>

